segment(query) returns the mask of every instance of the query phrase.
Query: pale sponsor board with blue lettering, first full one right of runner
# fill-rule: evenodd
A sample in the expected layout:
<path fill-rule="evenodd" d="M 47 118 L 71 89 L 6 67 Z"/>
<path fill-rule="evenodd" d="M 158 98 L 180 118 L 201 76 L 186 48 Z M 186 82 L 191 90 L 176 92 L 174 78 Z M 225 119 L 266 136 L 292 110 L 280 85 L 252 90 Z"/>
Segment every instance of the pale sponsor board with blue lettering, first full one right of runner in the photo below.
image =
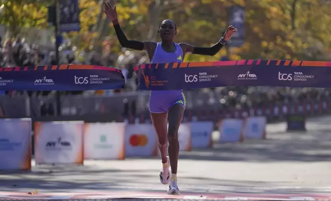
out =
<path fill-rule="evenodd" d="M 192 148 L 207 148 L 211 146 L 213 122 L 191 122 Z"/>

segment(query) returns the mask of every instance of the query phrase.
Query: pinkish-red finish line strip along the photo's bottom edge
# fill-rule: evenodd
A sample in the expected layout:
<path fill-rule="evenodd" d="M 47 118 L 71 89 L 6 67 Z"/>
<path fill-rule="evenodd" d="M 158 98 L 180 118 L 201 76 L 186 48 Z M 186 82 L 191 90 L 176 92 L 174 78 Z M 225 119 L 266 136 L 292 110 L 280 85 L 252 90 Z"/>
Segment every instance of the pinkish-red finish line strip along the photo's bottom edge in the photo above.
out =
<path fill-rule="evenodd" d="M 0 200 L 111 200 L 111 199 L 194 199 L 194 200 L 331 200 L 331 194 L 200 194 L 182 193 L 180 196 L 166 192 L 88 192 L 88 193 L 38 193 L 0 191 Z"/>

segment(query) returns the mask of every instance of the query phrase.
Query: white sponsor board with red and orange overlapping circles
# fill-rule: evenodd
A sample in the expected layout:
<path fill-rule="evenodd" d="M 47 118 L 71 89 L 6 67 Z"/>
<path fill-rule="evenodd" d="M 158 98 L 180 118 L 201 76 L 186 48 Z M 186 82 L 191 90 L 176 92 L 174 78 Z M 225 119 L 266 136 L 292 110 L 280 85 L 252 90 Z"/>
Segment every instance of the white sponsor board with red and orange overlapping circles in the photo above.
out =
<path fill-rule="evenodd" d="M 126 156 L 155 156 L 157 153 L 157 137 L 152 124 L 126 125 Z"/>

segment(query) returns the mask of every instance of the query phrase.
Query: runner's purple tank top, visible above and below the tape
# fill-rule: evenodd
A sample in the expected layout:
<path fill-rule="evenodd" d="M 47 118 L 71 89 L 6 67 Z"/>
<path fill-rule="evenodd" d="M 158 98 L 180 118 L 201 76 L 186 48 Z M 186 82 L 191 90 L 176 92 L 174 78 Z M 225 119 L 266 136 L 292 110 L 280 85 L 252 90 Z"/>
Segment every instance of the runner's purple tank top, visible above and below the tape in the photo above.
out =
<path fill-rule="evenodd" d="M 162 42 L 158 42 L 157 46 L 154 50 L 153 57 L 151 59 L 151 64 L 156 63 L 172 63 L 172 62 L 183 62 L 183 51 L 181 47 L 174 43 L 176 46 L 176 51 L 174 52 L 166 52 L 162 49 Z M 151 93 L 162 93 L 166 95 L 168 93 L 181 93 L 182 90 L 170 90 L 170 91 L 152 91 Z"/>

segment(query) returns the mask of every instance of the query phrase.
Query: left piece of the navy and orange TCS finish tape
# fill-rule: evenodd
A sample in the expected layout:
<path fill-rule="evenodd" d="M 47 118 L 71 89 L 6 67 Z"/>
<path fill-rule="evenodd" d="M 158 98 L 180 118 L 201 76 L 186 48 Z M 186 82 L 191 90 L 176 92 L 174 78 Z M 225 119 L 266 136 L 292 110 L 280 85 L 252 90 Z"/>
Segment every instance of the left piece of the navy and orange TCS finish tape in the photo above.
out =
<path fill-rule="evenodd" d="M 124 88 L 122 71 L 89 65 L 0 68 L 0 91 L 84 91 Z"/>

